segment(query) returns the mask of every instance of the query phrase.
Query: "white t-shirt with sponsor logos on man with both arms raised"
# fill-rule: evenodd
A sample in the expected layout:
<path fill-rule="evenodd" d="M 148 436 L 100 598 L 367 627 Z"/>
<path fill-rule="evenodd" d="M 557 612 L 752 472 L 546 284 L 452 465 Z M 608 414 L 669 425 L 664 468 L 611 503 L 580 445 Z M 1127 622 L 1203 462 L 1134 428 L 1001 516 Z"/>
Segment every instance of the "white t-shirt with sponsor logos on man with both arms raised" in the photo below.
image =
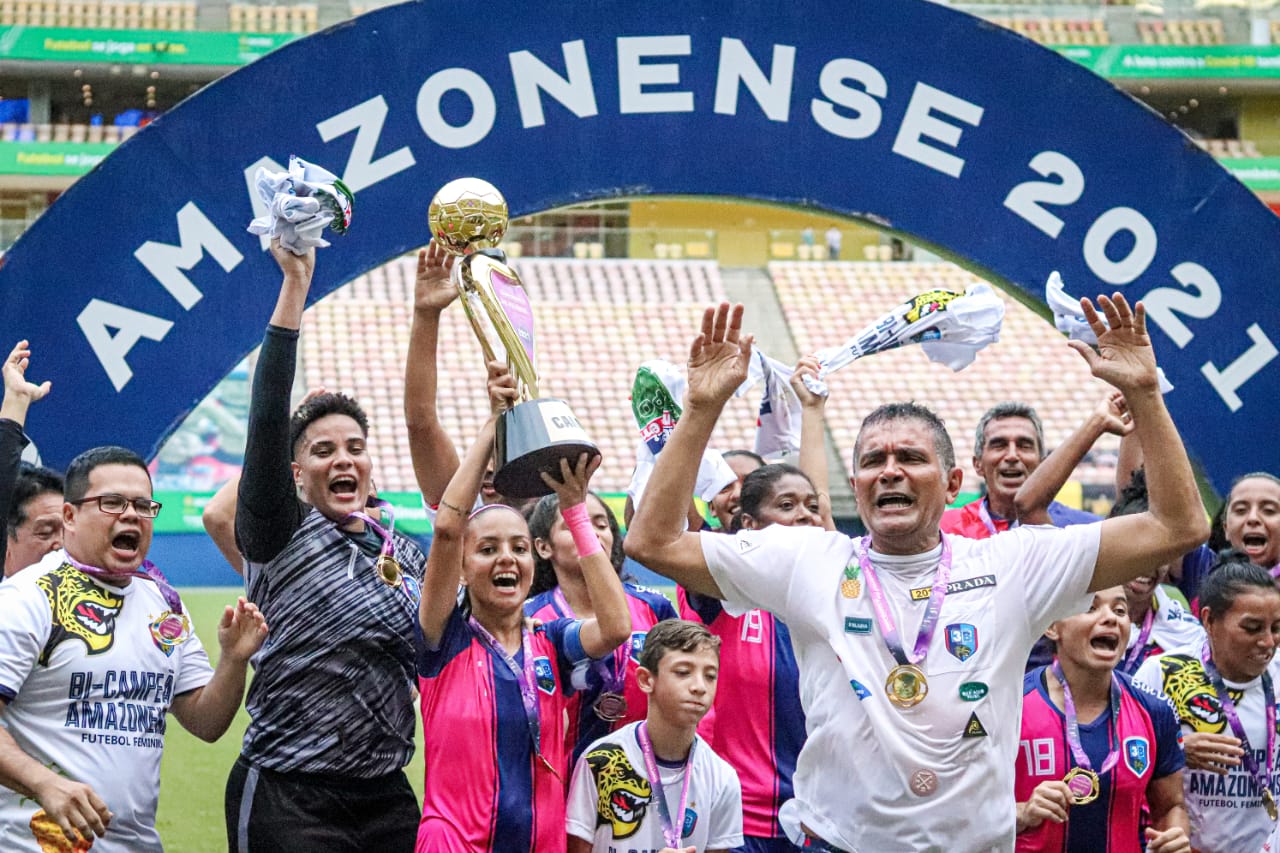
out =
<path fill-rule="evenodd" d="M 794 841 L 804 824 L 850 853 L 1014 849 L 1027 654 L 1052 621 L 1088 610 L 1100 525 L 947 539 L 948 594 L 920 665 L 928 695 L 904 710 L 886 695 L 896 661 L 865 578 L 841 584 L 856 540 L 781 525 L 703 534 L 730 612 L 760 607 L 791 629 L 808 720 L 795 799 L 780 815 Z M 940 555 L 872 553 L 909 652 Z"/>

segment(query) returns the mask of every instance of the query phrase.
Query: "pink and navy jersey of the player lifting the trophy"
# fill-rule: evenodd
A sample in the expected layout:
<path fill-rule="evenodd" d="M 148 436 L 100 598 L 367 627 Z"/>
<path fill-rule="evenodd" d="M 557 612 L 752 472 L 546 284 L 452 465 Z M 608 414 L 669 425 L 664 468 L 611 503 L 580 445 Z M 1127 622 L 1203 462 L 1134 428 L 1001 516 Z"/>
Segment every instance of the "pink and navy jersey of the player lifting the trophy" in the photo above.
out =
<path fill-rule="evenodd" d="M 575 672 L 590 660 L 581 625 L 550 621 L 531 638 L 545 761 L 534 753 L 516 675 L 484 646 L 462 608 L 449 616 L 439 648 L 426 648 L 419 634 L 426 763 L 419 853 L 564 850 L 564 712 L 584 684 Z M 522 666 L 524 652 L 515 657 Z"/>

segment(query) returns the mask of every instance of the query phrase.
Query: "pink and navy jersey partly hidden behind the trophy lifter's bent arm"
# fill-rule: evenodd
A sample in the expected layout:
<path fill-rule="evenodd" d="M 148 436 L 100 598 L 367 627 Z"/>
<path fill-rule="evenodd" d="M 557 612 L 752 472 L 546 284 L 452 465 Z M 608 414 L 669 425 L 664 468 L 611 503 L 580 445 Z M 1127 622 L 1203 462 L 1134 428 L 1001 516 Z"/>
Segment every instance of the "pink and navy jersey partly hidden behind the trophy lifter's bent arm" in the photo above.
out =
<path fill-rule="evenodd" d="M 640 652 L 644 651 L 644 638 L 648 637 L 649 629 L 664 619 L 676 619 L 676 608 L 671 606 L 666 596 L 652 589 L 632 583 L 623 583 L 622 589 L 627 594 L 627 610 L 631 613 L 631 640 L 626 647 L 620 647 L 613 654 L 599 661 L 595 665 L 596 676 L 591 679 L 589 689 L 571 698 L 566 738 L 572 744 L 572 754 L 571 761 L 566 765 L 566 772 L 573 768 L 582 751 L 589 745 L 611 731 L 644 720 L 649 712 L 649 698 L 636 683 Z M 563 596 L 557 596 L 556 592 L 557 589 L 548 589 L 526 601 L 525 615 L 544 622 L 556 619 L 575 619 L 576 615 L 570 608 L 568 602 L 564 601 Z M 600 690 L 609 689 L 611 681 L 617 683 L 620 669 L 627 712 L 621 720 L 609 722 L 596 716 L 593 703 L 599 697 Z"/>

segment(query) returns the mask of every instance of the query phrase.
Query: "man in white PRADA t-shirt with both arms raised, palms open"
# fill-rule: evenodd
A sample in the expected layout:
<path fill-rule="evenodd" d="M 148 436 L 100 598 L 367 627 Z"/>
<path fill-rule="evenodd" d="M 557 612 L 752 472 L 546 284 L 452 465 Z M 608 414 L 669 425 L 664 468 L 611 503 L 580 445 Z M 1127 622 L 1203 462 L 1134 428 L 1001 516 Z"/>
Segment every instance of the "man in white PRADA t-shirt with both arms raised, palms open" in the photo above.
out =
<path fill-rule="evenodd" d="M 1091 590 L 1207 537 L 1143 311 L 1119 296 L 1098 301 L 1106 324 L 1082 304 L 1098 351 L 1073 346 L 1124 392 L 1143 443 L 1166 448 L 1148 471 L 1151 511 L 983 540 L 942 537 L 938 520 L 963 476 L 955 451 L 928 409 L 892 403 L 864 420 L 854 450 L 865 548 L 817 529 L 726 537 L 685 528 L 675 508 L 686 506 L 692 473 L 673 462 L 705 446 L 751 357 L 741 306 L 708 309 L 669 439 L 690 450 L 658 457 L 626 548 L 731 612 L 762 607 L 791 629 L 809 731 L 796 797 L 781 812 L 792 841 L 849 852 L 1011 850 L 1021 674 L 1033 640 L 1087 610 Z"/>

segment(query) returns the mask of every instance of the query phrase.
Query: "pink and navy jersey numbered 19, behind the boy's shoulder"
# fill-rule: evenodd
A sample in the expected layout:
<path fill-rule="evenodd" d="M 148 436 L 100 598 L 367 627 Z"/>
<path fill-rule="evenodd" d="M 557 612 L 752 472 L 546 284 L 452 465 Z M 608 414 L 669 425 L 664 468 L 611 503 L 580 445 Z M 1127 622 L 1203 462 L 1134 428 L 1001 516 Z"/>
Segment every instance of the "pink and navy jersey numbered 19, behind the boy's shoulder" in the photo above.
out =
<path fill-rule="evenodd" d="M 684 588 L 677 599 L 681 617 L 707 625 L 721 639 L 716 716 L 704 738 L 742 783 L 742 834 L 782 838 L 778 809 L 794 797 L 791 777 L 805 739 L 791 634 L 763 610 L 731 616 L 714 598 L 690 599 Z"/>

